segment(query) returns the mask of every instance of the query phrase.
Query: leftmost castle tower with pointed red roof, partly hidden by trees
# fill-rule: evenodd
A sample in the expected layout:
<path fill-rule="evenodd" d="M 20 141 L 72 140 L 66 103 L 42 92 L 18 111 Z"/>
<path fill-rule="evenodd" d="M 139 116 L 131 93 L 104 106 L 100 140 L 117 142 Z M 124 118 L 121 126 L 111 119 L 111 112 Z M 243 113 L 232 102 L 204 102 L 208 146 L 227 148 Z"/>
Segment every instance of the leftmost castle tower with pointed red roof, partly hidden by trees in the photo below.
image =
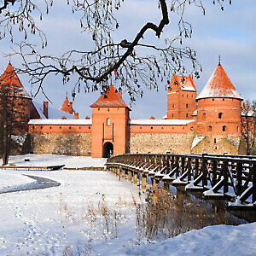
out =
<path fill-rule="evenodd" d="M 15 133 L 26 133 L 28 129 L 27 123 L 30 119 L 31 97 L 21 84 L 11 63 L 6 67 L 0 78 L 0 90 L 1 93 L 14 97 L 13 109 L 16 120 L 15 123 L 17 125 L 19 124 L 19 127 L 16 127 Z"/>

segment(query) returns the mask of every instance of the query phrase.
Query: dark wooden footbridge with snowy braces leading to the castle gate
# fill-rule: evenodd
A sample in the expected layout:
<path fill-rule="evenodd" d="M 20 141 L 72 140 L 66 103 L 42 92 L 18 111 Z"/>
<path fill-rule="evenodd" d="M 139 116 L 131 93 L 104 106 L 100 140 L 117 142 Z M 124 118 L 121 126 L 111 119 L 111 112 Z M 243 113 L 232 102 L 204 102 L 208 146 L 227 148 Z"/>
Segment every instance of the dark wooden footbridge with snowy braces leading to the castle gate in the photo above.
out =
<path fill-rule="evenodd" d="M 184 189 L 212 201 L 224 201 L 230 211 L 249 211 L 256 220 L 256 157 L 227 154 L 121 154 L 107 161 L 119 177 L 137 185 L 146 179 Z M 139 177 L 139 178 L 138 178 Z M 195 192 L 195 193 L 194 193 Z"/>

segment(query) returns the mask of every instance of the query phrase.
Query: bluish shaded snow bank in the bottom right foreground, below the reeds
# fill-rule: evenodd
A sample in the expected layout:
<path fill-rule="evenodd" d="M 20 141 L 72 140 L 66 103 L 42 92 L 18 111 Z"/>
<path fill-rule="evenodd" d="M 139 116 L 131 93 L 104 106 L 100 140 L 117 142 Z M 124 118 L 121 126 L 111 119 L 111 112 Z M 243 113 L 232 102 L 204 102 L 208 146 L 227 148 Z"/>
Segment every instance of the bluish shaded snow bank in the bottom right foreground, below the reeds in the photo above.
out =
<path fill-rule="evenodd" d="M 191 230 L 166 241 L 119 250 L 124 255 L 255 255 L 256 223 Z"/>

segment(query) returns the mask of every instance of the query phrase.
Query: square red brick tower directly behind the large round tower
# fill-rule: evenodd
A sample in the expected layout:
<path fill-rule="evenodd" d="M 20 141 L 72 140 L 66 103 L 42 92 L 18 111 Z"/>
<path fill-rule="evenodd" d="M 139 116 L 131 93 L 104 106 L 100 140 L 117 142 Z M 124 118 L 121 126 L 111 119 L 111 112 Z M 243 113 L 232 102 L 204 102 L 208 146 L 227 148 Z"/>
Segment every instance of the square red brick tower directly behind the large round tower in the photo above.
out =
<path fill-rule="evenodd" d="M 195 98 L 196 87 L 192 77 L 173 73 L 167 95 L 167 119 L 193 119 Z"/>

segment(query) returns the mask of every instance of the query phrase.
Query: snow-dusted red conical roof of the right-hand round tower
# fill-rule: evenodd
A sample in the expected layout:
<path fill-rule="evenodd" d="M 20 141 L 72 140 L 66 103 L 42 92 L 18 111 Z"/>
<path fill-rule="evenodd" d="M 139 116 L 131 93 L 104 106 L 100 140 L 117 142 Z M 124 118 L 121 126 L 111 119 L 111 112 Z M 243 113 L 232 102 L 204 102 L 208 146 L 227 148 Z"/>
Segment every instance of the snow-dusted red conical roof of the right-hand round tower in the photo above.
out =
<path fill-rule="evenodd" d="M 227 74 L 224 72 L 224 68 L 221 65 L 216 67 L 215 71 L 212 73 L 211 78 L 208 80 L 207 85 L 201 91 L 201 94 L 196 98 L 196 100 L 215 97 L 227 97 L 242 100 L 242 97 L 231 83 Z"/>

